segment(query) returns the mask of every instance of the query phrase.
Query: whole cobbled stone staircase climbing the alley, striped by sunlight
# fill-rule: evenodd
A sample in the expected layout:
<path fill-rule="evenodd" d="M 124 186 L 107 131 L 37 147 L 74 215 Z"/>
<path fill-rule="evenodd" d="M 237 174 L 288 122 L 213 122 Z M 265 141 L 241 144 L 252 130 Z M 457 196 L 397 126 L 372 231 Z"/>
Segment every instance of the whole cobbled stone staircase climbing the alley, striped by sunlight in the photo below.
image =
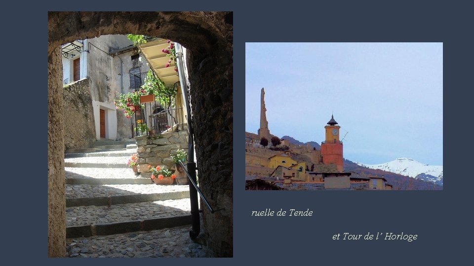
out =
<path fill-rule="evenodd" d="M 65 152 L 70 257 L 208 257 L 189 238 L 189 186 L 156 185 L 126 166 L 133 143 Z"/>

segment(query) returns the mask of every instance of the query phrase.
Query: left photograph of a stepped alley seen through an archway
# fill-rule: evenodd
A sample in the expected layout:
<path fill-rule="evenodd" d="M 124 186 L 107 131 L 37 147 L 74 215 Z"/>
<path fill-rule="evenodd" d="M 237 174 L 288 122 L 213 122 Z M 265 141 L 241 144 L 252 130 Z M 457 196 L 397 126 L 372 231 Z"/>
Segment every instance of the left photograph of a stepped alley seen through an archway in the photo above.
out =
<path fill-rule="evenodd" d="M 48 12 L 48 257 L 233 257 L 232 34 Z"/>

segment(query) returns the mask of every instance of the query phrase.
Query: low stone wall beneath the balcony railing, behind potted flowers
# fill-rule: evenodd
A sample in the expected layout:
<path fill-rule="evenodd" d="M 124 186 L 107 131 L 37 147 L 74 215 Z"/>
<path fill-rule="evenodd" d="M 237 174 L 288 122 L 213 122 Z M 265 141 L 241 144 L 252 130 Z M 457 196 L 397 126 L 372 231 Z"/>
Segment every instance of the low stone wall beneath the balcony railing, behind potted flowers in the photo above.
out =
<path fill-rule="evenodd" d="M 176 153 L 177 149 L 188 151 L 188 125 L 184 130 L 178 132 L 162 133 L 159 136 L 137 136 L 138 171 L 142 176 L 148 177 L 148 165 L 166 166 L 175 169 L 175 163 L 170 154 Z M 151 175 L 151 174 L 150 174 Z"/>

